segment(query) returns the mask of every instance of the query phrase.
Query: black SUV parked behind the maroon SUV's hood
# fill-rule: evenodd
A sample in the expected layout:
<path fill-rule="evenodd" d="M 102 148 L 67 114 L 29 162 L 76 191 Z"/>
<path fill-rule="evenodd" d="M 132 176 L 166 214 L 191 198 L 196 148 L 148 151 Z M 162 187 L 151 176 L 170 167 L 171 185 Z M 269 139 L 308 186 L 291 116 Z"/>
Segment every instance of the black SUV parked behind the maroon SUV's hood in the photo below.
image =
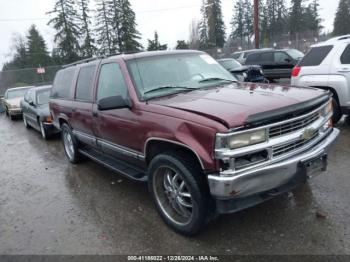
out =
<path fill-rule="evenodd" d="M 290 78 L 293 67 L 303 56 L 304 54 L 296 49 L 268 50 L 250 54 L 245 64 L 262 66 L 265 77 L 273 81 Z"/>

